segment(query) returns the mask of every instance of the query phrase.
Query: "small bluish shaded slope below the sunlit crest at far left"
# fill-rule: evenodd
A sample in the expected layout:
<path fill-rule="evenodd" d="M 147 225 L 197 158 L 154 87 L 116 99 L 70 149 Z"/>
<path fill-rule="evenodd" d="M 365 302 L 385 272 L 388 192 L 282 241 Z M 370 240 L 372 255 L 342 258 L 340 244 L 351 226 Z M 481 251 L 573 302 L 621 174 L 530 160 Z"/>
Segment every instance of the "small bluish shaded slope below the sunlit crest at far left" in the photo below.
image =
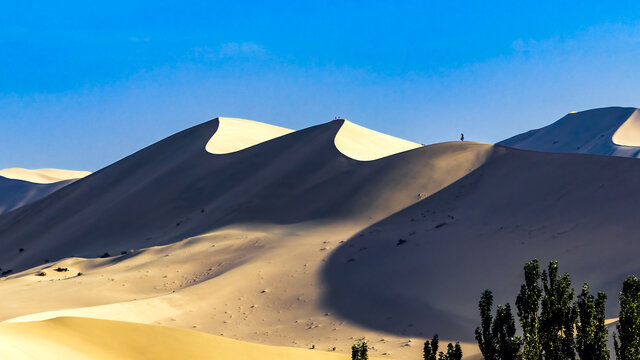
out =
<path fill-rule="evenodd" d="M 39 200 L 72 182 L 38 184 L 0 176 L 0 215 Z"/>

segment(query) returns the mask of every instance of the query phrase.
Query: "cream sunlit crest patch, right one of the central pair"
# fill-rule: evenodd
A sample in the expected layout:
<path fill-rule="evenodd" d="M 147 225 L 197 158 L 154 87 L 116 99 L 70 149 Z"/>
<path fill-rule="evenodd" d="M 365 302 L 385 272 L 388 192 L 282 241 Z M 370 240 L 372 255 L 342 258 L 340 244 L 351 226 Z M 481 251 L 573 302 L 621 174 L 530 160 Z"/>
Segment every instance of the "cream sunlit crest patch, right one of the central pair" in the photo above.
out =
<path fill-rule="evenodd" d="M 343 155 L 354 160 L 377 160 L 422 146 L 367 129 L 347 120 L 343 121 L 344 123 L 334 138 L 334 143 Z"/>

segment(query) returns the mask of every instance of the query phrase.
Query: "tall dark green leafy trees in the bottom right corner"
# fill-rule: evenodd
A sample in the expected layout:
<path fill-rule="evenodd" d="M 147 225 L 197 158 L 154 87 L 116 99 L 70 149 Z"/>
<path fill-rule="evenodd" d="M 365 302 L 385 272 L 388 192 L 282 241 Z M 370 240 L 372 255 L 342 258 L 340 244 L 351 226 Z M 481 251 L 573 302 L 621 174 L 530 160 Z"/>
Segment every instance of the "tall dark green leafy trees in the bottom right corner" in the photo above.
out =
<path fill-rule="evenodd" d="M 571 277 L 559 275 L 557 261 L 542 272 L 537 260 L 527 262 L 524 278 L 515 302 L 522 335 L 516 335 L 509 303 L 498 305 L 494 317 L 493 293 L 485 290 L 480 297 L 475 336 L 484 359 L 609 360 L 606 294 L 591 294 L 585 283 L 575 296 Z M 640 279 L 634 276 L 624 281 L 620 293 L 614 340 L 617 359 L 640 359 Z"/>

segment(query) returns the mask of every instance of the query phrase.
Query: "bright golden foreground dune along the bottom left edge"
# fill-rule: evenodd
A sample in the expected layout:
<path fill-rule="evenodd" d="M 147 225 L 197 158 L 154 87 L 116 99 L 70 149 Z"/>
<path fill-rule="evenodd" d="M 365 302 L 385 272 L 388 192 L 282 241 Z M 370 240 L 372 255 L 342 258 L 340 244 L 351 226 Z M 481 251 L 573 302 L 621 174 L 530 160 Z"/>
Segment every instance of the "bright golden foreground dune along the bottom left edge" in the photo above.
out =
<path fill-rule="evenodd" d="M 0 358 L 346 360 L 350 356 L 253 344 L 157 325 L 60 317 L 0 324 Z"/>

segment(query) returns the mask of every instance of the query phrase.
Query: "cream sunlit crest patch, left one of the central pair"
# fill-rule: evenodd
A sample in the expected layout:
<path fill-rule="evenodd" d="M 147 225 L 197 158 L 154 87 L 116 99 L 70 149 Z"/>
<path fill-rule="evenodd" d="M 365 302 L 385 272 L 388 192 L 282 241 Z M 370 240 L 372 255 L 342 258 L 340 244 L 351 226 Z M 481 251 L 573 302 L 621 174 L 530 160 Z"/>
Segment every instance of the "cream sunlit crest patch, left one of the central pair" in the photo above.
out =
<path fill-rule="evenodd" d="M 205 149 L 211 154 L 229 154 L 292 133 L 293 130 L 257 121 L 218 117 L 218 129 Z"/>

